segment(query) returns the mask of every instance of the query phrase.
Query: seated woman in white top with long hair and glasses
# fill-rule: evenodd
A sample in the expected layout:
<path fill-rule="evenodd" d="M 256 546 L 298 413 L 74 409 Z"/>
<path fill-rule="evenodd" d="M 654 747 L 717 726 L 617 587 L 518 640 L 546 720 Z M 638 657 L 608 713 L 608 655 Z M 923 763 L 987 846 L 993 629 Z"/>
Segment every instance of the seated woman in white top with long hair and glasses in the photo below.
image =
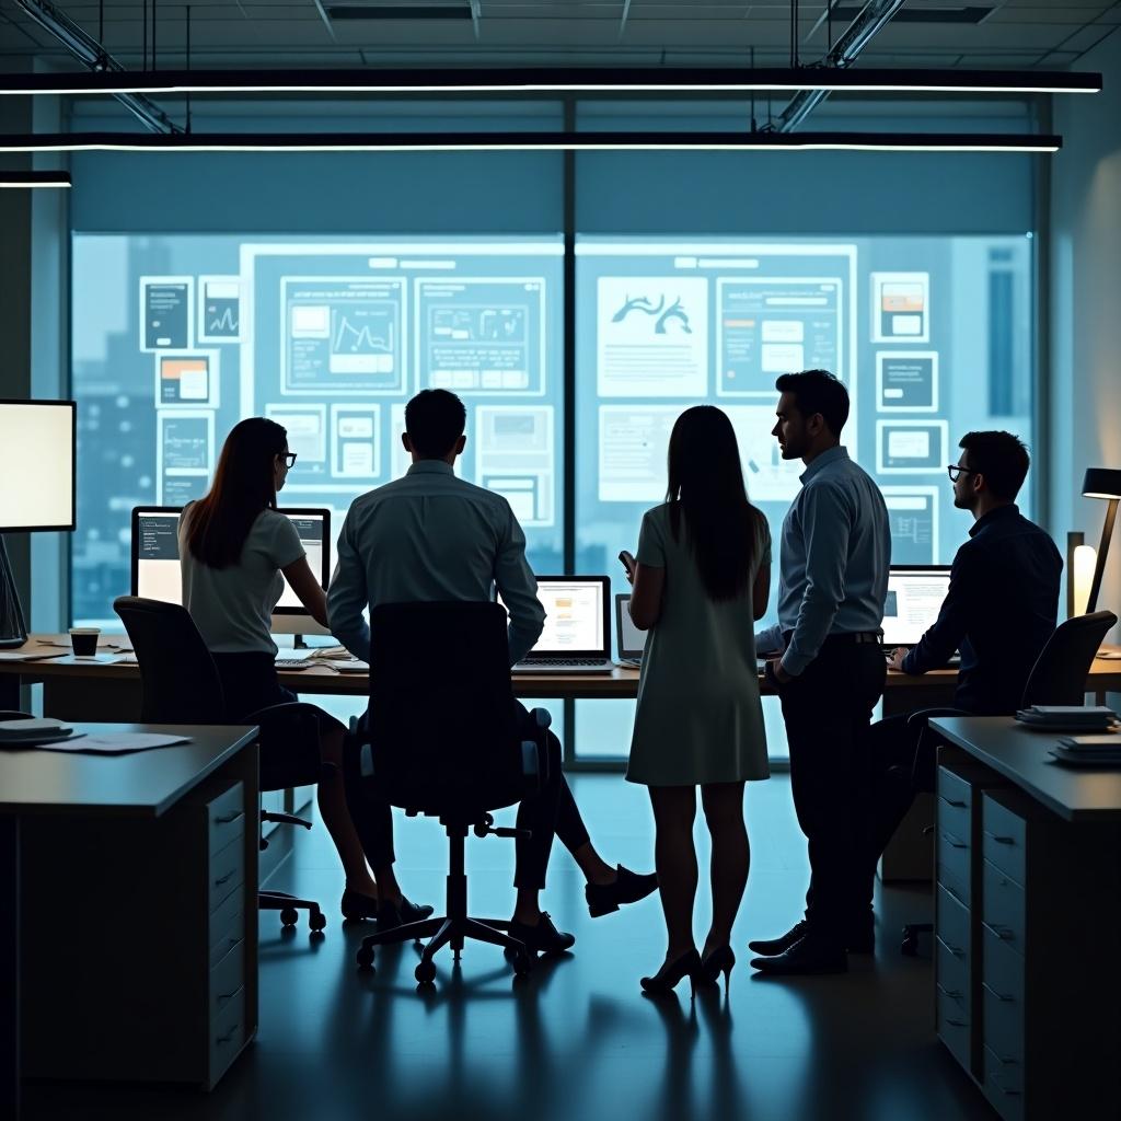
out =
<path fill-rule="evenodd" d="M 183 603 L 214 658 L 233 721 L 297 700 L 277 679 L 277 647 L 269 633 L 284 581 L 316 622 L 327 622 L 326 596 L 299 535 L 277 512 L 277 491 L 295 458 L 280 425 L 263 417 L 242 420 L 226 437 L 210 492 L 185 507 L 179 519 Z M 346 803 L 344 734 L 342 724 L 322 714 L 321 758 L 334 767 L 318 784 L 319 812 L 346 873 L 343 916 L 376 918 L 378 883 Z M 397 902 L 400 893 L 391 871 L 389 878 L 382 895 Z M 408 918 L 421 917 L 423 910 L 413 908 Z"/>

